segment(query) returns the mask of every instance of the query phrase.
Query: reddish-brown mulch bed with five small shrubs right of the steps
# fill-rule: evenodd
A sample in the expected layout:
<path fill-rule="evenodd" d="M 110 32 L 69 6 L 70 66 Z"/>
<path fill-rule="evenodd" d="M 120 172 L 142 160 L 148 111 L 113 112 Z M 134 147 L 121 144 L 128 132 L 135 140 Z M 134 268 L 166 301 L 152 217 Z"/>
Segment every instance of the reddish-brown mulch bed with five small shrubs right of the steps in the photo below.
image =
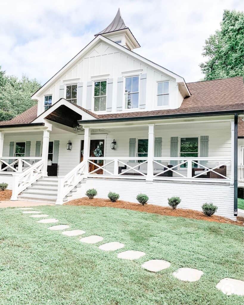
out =
<path fill-rule="evenodd" d="M 128 209 L 128 210 L 155 213 L 166 216 L 186 217 L 191 219 L 214 221 L 224 224 L 236 224 L 239 226 L 243 225 L 243 217 L 237 217 L 237 221 L 233 221 L 231 219 L 217 215 L 207 217 L 202 212 L 196 210 L 187 210 L 187 209 L 178 209 L 178 208 L 172 210 L 170 207 L 156 206 L 153 204 L 147 204 L 145 206 L 142 206 L 141 204 L 138 203 L 131 203 L 123 200 L 118 200 L 117 202 L 111 202 L 109 199 L 102 199 L 102 198 L 88 199 L 87 197 L 83 197 L 80 199 L 71 200 L 64 204 L 70 206 L 98 206 L 98 207 L 106 206 L 110 208 L 113 207 L 120 209 Z"/>

